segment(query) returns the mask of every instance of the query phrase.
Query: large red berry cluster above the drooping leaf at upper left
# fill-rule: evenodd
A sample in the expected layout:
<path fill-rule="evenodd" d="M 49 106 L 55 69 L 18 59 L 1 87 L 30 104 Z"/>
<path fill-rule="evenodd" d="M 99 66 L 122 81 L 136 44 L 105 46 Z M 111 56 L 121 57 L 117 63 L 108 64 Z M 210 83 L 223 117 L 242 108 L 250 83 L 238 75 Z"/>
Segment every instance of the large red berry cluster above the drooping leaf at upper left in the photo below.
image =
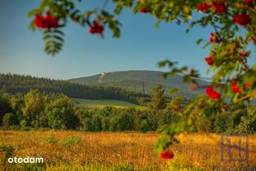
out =
<path fill-rule="evenodd" d="M 59 19 L 52 15 L 37 15 L 33 20 L 34 24 L 40 29 L 52 29 L 59 27 Z"/>

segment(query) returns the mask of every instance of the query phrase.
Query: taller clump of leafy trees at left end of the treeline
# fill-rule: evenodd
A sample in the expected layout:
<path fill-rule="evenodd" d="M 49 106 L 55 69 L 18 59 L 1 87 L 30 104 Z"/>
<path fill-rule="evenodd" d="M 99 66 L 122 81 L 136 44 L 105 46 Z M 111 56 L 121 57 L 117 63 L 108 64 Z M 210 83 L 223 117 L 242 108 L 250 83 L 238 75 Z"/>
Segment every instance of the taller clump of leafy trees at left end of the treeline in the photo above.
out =
<path fill-rule="evenodd" d="M 73 103 L 64 94 L 27 94 L 0 96 L 0 123 L 34 128 L 76 129 L 78 118 Z"/>

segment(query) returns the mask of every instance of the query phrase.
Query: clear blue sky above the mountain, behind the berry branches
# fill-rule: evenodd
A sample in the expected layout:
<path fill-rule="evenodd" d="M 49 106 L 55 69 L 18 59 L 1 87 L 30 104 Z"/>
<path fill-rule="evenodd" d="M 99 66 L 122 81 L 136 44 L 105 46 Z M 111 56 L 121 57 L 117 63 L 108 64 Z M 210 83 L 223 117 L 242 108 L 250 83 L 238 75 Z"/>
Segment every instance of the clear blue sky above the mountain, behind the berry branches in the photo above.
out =
<path fill-rule="evenodd" d="M 188 65 L 205 75 L 207 50 L 196 46 L 198 38 L 209 39 L 212 29 L 196 27 L 185 33 L 186 25 L 162 23 L 147 14 L 123 11 L 121 37 L 115 39 L 107 31 L 105 38 L 92 36 L 88 28 L 69 23 L 64 50 L 51 57 L 43 51 L 42 33 L 28 29 L 28 11 L 38 7 L 39 0 L 6 0 L 0 6 L 0 72 L 28 74 L 36 77 L 68 79 L 99 72 L 123 70 L 160 70 L 157 62 L 170 59 Z M 86 0 L 81 8 L 102 7 L 102 0 Z M 108 4 L 107 10 L 113 8 Z"/>

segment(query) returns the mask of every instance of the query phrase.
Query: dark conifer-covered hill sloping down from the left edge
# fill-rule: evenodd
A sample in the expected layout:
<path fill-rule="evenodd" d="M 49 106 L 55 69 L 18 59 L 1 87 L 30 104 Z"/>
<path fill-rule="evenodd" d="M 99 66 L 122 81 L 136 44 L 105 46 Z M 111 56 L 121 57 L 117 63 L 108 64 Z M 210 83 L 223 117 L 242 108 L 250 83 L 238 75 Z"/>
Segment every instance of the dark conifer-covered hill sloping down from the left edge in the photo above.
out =
<path fill-rule="evenodd" d="M 117 87 L 81 85 L 69 81 L 0 73 L 0 90 L 1 89 L 11 94 L 27 93 L 31 89 L 37 89 L 45 93 L 63 93 L 70 98 L 118 99 L 131 103 L 137 103 L 139 97 L 148 97 L 148 95 L 121 90 L 121 88 Z"/>

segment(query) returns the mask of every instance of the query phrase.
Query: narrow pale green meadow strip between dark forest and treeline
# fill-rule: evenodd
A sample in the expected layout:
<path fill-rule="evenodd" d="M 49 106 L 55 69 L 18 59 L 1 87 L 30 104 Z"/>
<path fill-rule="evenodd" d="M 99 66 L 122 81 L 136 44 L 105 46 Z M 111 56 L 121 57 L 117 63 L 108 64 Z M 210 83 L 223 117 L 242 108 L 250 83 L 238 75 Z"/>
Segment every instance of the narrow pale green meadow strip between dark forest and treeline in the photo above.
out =
<path fill-rule="evenodd" d="M 121 100 L 111 100 L 111 99 L 72 99 L 73 103 L 77 107 L 88 107 L 88 108 L 103 108 L 103 107 L 135 107 L 137 109 L 144 109 L 145 107 L 129 103 Z"/>

